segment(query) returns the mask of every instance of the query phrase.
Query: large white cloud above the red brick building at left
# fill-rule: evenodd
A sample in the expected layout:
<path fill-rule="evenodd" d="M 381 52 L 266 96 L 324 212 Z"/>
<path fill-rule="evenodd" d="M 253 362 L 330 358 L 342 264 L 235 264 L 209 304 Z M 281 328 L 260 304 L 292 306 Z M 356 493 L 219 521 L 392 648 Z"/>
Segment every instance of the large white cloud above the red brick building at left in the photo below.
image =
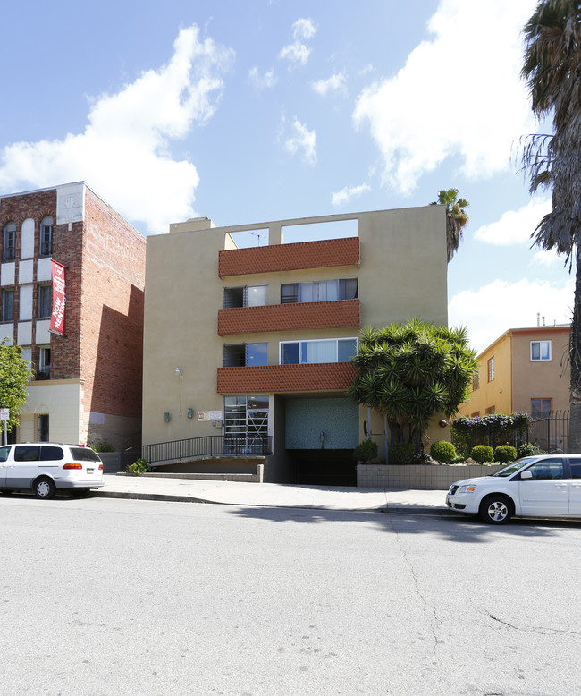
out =
<path fill-rule="evenodd" d="M 199 182 L 196 167 L 173 160 L 169 146 L 212 117 L 232 55 L 200 40 L 196 26 L 181 30 L 168 64 L 93 101 L 84 132 L 4 148 L 0 189 L 82 179 L 136 225 L 167 232 L 169 222 L 195 214 Z"/>

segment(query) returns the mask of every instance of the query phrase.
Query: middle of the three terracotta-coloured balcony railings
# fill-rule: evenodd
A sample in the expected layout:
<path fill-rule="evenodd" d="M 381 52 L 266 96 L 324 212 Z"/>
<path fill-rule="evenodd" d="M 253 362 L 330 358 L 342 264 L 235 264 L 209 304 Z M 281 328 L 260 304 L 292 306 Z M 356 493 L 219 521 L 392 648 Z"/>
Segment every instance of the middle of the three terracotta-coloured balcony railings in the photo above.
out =
<path fill-rule="evenodd" d="M 218 310 L 218 335 L 361 327 L 358 300 L 296 302 Z"/>

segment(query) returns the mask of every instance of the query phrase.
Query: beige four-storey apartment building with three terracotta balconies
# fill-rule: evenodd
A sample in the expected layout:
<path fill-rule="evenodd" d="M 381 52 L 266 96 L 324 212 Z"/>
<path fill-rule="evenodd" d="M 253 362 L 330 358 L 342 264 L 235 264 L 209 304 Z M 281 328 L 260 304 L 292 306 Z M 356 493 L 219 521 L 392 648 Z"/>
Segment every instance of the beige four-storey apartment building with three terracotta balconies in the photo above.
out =
<path fill-rule="evenodd" d="M 311 241 L 284 243 L 299 227 Z M 242 233 L 255 246 L 239 248 Z M 165 471 L 260 461 L 265 480 L 354 484 L 367 411 L 344 390 L 359 330 L 412 316 L 446 325 L 446 274 L 442 206 L 226 227 L 196 218 L 149 236 L 143 444 L 168 443 L 155 457 Z M 379 416 L 371 429 L 381 459 Z"/>

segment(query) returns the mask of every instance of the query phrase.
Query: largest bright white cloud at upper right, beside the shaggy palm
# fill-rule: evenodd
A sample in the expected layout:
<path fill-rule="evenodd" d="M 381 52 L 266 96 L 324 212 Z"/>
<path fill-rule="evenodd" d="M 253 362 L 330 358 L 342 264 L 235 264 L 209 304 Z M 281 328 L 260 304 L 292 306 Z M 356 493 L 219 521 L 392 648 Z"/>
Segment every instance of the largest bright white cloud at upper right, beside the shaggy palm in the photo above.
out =
<path fill-rule="evenodd" d="M 383 179 L 401 192 L 448 157 L 469 177 L 506 169 L 513 142 L 535 131 L 522 65 L 521 30 L 536 0 L 441 0 L 434 34 L 400 72 L 369 85 L 353 118 L 383 156 Z"/>

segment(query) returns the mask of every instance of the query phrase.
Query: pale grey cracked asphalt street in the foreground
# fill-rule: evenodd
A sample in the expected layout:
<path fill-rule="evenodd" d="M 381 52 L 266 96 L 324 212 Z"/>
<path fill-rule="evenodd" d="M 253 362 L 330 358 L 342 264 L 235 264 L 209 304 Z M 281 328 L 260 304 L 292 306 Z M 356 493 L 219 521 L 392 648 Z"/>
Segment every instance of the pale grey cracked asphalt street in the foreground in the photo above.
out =
<path fill-rule="evenodd" d="M 581 523 L 0 499 L 2 694 L 579 693 Z"/>

